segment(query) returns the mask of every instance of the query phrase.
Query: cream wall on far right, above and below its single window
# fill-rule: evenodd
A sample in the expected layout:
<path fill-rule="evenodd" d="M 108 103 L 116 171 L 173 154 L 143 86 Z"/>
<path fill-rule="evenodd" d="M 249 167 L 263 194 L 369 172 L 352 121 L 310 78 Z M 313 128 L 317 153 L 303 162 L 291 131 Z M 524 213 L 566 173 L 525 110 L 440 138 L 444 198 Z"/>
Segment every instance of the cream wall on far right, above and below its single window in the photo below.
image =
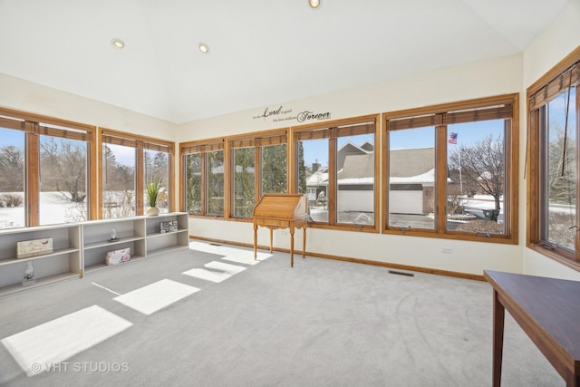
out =
<path fill-rule="evenodd" d="M 580 1 L 569 0 L 565 9 L 556 20 L 524 52 L 524 87 L 529 87 L 547 71 L 560 62 L 568 53 L 580 46 Z M 525 100 L 522 100 L 525 102 Z M 524 106 L 525 107 L 525 106 Z M 522 115 L 525 119 L 526 114 Z M 525 127 L 522 127 L 525 128 Z M 526 131 L 522 130 L 525 139 Z M 522 144 L 521 150 L 525 143 Z M 522 160 L 523 164 L 524 160 Z M 521 179 L 520 187 L 525 192 L 526 181 Z M 526 198 L 520 196 L 520 202 L 526 203 Z M 526 212 L 522 208 L 520 215 L 520 230 L 522 235 L 526 230 Z M 580 272 L 523 247 L 523 272 L 533 276 L 552 276 L 580 280 Z"/>

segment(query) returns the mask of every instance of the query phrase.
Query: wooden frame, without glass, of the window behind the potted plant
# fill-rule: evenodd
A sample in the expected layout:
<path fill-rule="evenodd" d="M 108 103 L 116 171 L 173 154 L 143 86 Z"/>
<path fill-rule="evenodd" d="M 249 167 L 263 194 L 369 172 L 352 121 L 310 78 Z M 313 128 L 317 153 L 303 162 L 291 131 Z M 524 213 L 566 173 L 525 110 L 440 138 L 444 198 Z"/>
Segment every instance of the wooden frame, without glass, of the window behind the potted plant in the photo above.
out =
<path fill-rule="evenodd" d="M 102 145 L 105 143 L 126 145 L 137 150 L 135 160 L 135 215 L 141 216 L 144 214 L 144 192 L 143 192 L 143 150 L 158 150 L 169 153 L 169 212 L 175 211 L 176 192 L 174 188 L 175 181 L 175 143 L 168 140 L 155 139 L 153 137 L 140 136 L 125 131 L 114 131 L 107 128 L 98 128 L 97 135 L 97 157 L 99 160 L 99 192 L 97 200 L 98 217 L 102 218 Z"/>

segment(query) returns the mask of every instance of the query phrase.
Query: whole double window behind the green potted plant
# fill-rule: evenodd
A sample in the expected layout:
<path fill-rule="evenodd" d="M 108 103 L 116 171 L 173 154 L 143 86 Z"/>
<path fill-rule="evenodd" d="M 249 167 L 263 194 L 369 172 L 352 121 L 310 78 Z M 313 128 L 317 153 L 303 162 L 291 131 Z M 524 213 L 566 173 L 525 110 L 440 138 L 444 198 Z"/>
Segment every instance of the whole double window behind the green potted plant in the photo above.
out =
<path fill-rule="evenodd" d="M 102 130 L 102 218 L 143 215 L 149 207 L 147 185 L 160 182 L 160 212 L 170 212 L 173 143 Z"/>

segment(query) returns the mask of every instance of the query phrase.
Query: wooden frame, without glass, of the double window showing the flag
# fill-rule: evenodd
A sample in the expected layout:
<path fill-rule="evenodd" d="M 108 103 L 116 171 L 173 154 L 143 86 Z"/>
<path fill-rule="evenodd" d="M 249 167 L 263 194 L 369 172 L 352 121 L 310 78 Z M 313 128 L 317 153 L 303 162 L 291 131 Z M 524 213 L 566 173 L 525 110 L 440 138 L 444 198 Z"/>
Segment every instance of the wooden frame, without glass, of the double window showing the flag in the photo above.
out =
<path fill-rule="evenodd" d="M 477 242 L 492 242 L 517 244 L 517 185 L 519 165 L 519 95 L 517 93 L 479 98 L 463 102 L 444 103 L 418 109 L 391 111 L 382 113 L 382 233 L 405 235 L 413 237 L 440 237 L 449 239 L 469 240 Z M 488 234 L 459 232 L 446 227 L 447 198 L 447 125 L 458 122 L 480 121 L 491 118 L 506 118 L 507 111 L 494 106 L 511 105 L 511 129 L 506 133 L 506 193 L 507 203 L 506 233 Z M 475 113 L 474 113 L 475 111 Z M 481 113 L 481 114 L 480 114 Z M 436 224 L 433 229 L 389 227 L 389 131 L 411 129 L 425 126 L 435 127 L 435 208 Z"/>

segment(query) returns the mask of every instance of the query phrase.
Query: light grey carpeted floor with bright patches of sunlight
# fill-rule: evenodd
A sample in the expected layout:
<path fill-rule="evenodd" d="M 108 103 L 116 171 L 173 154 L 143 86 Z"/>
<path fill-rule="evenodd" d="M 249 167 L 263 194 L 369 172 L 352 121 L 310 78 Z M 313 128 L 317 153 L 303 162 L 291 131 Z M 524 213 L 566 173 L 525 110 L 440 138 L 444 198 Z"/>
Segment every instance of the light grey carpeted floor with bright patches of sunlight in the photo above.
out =
<path fill-rule="evenodd" d="M 491 385 L 485 282 L 191 246 L 0 297 L 0 385 Z M 565 385 L 509 315 L 503 368 Z"/>

